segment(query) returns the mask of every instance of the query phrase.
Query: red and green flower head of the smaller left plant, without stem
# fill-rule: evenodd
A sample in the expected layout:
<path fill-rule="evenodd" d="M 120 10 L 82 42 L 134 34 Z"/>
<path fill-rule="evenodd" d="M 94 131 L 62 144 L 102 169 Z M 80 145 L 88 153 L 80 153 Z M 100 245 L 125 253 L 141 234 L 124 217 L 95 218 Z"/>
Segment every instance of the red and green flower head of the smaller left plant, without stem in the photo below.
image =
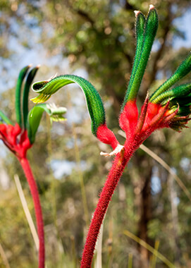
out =
<path fill-rule="evenodd" d="M 20 71 L 16 85 L 16 124 L 13 125 L 3 111 L 0 111 L 0 139 L 20 159 L 26 156 L 27 150 L 35 142 L 35 135 L 43 112 L 46 111 L 53 121 L 65 120 L 62 115 L 66 113 L 66 108 L 58 108 L 55 104 L 40 104 L 28 111 L 30 85 L 39 66 L 32 68 L 27 75 L 29 68 L 30 66 L 26 66 Z M 27 78 L 23 89 L 23 109 L 21 109 L 21 90 L 26 75 Z"/>

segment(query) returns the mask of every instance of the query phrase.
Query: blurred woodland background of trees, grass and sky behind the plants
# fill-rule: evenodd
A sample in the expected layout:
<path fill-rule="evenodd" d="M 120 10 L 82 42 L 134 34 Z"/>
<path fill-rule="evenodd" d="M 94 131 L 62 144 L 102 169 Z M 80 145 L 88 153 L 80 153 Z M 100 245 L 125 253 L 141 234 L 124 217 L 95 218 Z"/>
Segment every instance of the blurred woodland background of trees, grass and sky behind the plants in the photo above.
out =
<path fill-rule="evenodd" d="M 109 127 L 118 135 L 118 114 L 135 53 L 134 10 L 159 13 L 159 30 L 138 96 L 171 75 L 190 50 L 189 0 L 1 0 L 1 109 L 15 120 L 14 85 L 23 66 L 40 63 L 37 80 L 74 73 L 87 78 L 104 100 Z M 190 81 L 187 75 L 185 81 Z M 64 92 L 65 91 L 65 92 Z M 30 92 L 31 97 L 34 95 Z M 68 121 L 44 117 L 28 152 L 44 214 L 47 267 L 79 267 L 87 224 L 112 159 L 94 138 L 85 99 L 70 85 L 51 99 L 66 106 Z M 30 104 L 33 105 L 32 103 Z M 123 144 L 121 135 L 118 139 Z M 34 219 L 29 189 L 18 162 L 1 145 L 0 243 L 10 267 L 37 267 L 37 254 L 13 175 L 18 173 Z M 144 145 L 173 168 L 191 192 L 190 130 L 160 130 Z M 82 190 L 85 184 L 85 195 Z M 81 186 L 80 186 L 81 185 Z M 152 267 L 152 254 L 124 235 L 128 230 L 154 247 L 175 267 L 191 267 L 191 204 L 172 176 L 137 150 L 113 195 L 104 221 L 103 267 Z M 6 267 L 0 256 L 0 267 Z M 166 267 L 156 260 L 155 267 Z"/>

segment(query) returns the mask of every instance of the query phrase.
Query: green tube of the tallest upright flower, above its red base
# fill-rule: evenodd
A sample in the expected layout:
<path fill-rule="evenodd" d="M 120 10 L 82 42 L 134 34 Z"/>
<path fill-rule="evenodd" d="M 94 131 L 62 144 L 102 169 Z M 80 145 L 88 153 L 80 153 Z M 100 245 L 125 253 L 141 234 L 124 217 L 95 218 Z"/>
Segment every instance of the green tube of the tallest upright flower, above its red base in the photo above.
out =
<path fill-rule="evenodd" d="M 143 41 L 143 20 L 144 19 L 142 15 L 140 15 L 139 20 L 138 22 L 140 24 L 139 24 L 139 27 L 137 28 L 137 31 L 139 32 L 139 35 L 140 35 L 139 48 L 136 51 L 137 55 L 135 56 L 135 66 L 133 66 L 133 75 L 131 76 L 132 78 L 130 78 L 130 85 L 128 86 L 128 90 L 126 92 L 122 107 L 125 106 L 128 100 L 136 98 L 137 92 L 140 88 L 142 77 L 144 75 L 144 70 L 147 66 L 149 54 L 151 52 L 152 44 L 154 42 L 154 37 L 156 35 L 156 30 L 158 28 L 158 15 L 156 13 L 156 9 L 152 7 L 149 10 L 149 14 L 147 16 L 145 30 L 144 30 L 144 41 Z M 141 42 L 143 42 L 143 44 L 141 44 Z"/>

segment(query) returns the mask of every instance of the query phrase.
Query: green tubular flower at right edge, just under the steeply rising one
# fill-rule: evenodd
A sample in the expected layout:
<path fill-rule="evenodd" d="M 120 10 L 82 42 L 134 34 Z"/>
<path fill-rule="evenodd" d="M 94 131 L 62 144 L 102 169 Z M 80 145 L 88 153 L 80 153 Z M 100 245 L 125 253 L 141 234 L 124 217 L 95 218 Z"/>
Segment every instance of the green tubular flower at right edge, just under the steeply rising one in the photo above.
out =
<path fill-rule="evenodd" d="M 184 85 L 179 85 L 178 87 L 174 87 L 172 90 L 168 90 L 164 93 L 161 93 L 158 97 L 153 99 L 152 103 L 161 103 L 164 99 L 169 98 L 178 98 L 178 97 L 187 97 L 191 92 L 191 83 L 187 83 Z"/>

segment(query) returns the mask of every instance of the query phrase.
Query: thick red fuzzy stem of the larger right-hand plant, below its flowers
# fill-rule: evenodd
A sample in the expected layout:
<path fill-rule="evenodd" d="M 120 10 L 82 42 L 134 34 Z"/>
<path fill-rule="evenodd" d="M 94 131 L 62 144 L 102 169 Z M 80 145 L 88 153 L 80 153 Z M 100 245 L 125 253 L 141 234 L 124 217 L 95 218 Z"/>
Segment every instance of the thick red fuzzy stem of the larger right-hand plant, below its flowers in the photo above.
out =
<path fill-rule="evenodd" d="M 126 164 L 128 164 L 130 157 L 132 157 L 133 153 L 135 152 L 135 150 L 137 150 L 139 145 L 140 142 L 132 140 L 132 138 L 128 139 L 125 142 L 124 149 L 121 151 L 121 153 L 118 153 L 116 158 L 114 159 L 111 170 L 109 171 L 109 175 L 106 178 L 104 188 L 101 191 L 101 195 L 99 197 L 99 201 L 97 203 L 97 207 L 94 211 L 94 216 L 92 218 L 90 228 L 87 233 L 80 268 L 91 267 L 94 248 L 96 245 L 97 237 L 99 235 L 99 229 L 104 219 L 104 215 L 106 214 L 106 210 L 109 206 L 109 202 L 111 200 L 114 190 L 116 189 L 116 186 L 118 185 L 118 181 L 121 178 Z"/>

